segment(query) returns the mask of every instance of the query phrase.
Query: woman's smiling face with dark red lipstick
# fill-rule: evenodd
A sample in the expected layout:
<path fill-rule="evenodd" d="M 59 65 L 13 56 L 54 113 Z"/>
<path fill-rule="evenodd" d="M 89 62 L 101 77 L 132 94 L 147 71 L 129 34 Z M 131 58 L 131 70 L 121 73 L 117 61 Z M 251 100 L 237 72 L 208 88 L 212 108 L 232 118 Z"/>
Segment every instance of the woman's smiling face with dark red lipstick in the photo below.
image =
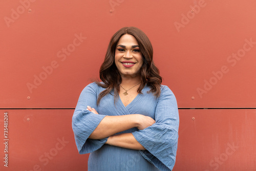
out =
<path fill-rule="evenodd" d="M 136 38 L 124 34 L 117 42 L 115 64 L 122 77 L 137 77 L 143 65 L 142 54 Z"/>

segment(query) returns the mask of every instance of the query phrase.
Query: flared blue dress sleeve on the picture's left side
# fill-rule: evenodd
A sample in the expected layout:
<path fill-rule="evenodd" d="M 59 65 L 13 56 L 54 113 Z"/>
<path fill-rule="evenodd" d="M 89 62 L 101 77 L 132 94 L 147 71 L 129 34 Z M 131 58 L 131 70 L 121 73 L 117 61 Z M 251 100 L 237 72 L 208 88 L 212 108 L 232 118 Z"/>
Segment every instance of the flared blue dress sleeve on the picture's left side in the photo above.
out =
<path fill-rule="evenodd" d="M 88 138 L 105 117 L 86 110 L 88 105 L 98 111 L 96 83 L 91 83 L 82 90 L 72 117 L 72 129 L 79 154 L 96 151 L 108 139 L 108 137 L 100 140 Z"/>

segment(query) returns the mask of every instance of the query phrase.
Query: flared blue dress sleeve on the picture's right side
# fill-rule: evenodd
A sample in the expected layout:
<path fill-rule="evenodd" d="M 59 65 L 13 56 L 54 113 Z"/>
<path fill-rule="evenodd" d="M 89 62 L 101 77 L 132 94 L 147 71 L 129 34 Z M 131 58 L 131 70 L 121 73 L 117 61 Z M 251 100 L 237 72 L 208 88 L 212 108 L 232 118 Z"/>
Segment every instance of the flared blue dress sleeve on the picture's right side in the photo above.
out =
<path fill-rule="evenodd" d="M 152 126 L 133 132 L 133 135 L 146 148 L 140 154 L 160 170 L 169 171 L 176 160 L 179 113 L 176 98 L 167 86 L 161 87 L 155 120 Z"/>

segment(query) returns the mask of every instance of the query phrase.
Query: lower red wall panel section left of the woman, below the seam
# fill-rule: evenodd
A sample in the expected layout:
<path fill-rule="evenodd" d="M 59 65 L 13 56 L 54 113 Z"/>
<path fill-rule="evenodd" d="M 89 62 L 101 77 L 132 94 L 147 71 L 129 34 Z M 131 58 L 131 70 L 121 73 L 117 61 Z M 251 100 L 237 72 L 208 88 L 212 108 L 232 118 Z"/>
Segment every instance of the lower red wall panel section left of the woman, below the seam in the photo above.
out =
<path fill-rule="evenodd" d="M 7 137 L 4 137 L 5 112 L 8 112 Z M 73 112 L 0 110 L 0 170 L 87 170 L 88 155 L 79 155 L 75 145 Z M 3 162 L 6 154 L 8 167 Z"/>

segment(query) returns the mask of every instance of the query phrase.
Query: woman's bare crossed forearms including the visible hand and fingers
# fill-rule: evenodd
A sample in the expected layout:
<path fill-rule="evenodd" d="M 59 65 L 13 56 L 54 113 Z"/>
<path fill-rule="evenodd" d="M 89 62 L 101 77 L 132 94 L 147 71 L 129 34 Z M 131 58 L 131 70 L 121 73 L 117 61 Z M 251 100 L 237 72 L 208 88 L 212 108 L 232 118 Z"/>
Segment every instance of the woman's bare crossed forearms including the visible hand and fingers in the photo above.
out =
<path fill-rule="evenodd" d="M 87 110 L 98 114 L 98 112 L 87 107 Z M 133 114 L 133 115 L 121 115 L 121 116 L 105 116 L 93 133 L 89 136 L 90 139 L 101 139 L 109 137 L 106 144 L 119 146 L 123 148 L 144 150 L 145 148 L 134 138 L 132 133 L 124 133 L 114 135 L 116 133 L 137 127 L 139 130 L 143 130 L 148 126 L 155 123 L 155 120 L 151 117 Z"/>

